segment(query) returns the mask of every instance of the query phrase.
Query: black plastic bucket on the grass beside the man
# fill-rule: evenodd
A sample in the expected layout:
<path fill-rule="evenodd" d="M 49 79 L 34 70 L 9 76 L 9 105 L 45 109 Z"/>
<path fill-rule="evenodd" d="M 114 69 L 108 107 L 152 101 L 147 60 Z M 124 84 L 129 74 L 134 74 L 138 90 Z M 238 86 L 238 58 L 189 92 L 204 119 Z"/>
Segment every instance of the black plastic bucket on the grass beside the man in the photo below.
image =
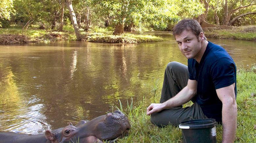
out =
<path fill-rule="evenodd" d="M 180 122 L 184 143 L 216 143 L 215 119 L 195 119 Z"/>

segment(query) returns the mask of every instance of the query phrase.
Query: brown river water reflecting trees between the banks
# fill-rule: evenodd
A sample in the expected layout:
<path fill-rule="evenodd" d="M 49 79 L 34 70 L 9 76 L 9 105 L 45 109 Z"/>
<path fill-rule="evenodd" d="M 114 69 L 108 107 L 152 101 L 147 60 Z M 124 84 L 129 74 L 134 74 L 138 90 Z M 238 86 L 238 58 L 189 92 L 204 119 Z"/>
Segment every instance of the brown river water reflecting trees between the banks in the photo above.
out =
<path fill-rule="evenodd" d="M 0 131 L 42 133 L 90 120 L 143 100 L 162 85 L 166 64 L 187 64 L 170 32 L 145 32 L 163 42 L 105 44 L 56 42 L 0 46 Z M 256 42 L 211 39 L 237 67 L 256 63 Z M 161 89 L 159 89 L 161 90 Z M 146 109 L 145 109 L 146 111 Z"/>

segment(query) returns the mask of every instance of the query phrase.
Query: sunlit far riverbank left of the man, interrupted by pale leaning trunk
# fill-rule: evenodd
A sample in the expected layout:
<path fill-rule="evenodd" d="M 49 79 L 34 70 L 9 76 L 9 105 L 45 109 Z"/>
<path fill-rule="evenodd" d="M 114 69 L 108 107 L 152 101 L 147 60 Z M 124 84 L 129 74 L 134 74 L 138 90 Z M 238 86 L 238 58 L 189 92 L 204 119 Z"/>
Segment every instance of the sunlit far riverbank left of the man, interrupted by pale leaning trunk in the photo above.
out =
<path fill-rule="evenodd" d="M 85 32 L 82 41 L 100 42 L 100 43 L 142 43 L 142 42 L 160 42 L 163 38 L 153 35 L 140 34 L 121 34 L 113 35 L 110 31 L 104 32 Z M 9 28 L 0 29 L 0 45 L 20 44 L 29 42 L 49 42 L 49 41 L 76 41 L 74 31 L 46 31 L 38 29 Z"/>

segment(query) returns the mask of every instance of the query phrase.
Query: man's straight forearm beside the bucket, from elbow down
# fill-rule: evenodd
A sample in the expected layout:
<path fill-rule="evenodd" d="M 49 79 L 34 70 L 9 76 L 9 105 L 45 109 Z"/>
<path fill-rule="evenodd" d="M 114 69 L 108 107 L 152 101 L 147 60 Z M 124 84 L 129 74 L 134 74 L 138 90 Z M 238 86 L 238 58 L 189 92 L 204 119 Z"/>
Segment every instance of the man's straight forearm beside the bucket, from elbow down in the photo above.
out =
<path fill-rule="evenodd" d="M 236 101 L 222 106 L 223 143 L 234 142 L 237 129 L 237 104 Z"/>

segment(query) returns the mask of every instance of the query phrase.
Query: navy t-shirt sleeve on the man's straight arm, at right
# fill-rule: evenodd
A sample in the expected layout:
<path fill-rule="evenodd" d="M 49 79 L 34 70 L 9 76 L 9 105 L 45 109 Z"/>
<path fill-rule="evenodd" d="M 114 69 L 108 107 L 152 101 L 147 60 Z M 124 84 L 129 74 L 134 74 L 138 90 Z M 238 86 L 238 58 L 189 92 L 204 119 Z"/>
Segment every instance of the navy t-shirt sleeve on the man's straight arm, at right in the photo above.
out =
<path fill-rule="evenodd" d="M 211 66 L 212 80 L 215 89 L 230 86 L 235 83 L 235 64 L 229 58 L 220 58 Z"/>

